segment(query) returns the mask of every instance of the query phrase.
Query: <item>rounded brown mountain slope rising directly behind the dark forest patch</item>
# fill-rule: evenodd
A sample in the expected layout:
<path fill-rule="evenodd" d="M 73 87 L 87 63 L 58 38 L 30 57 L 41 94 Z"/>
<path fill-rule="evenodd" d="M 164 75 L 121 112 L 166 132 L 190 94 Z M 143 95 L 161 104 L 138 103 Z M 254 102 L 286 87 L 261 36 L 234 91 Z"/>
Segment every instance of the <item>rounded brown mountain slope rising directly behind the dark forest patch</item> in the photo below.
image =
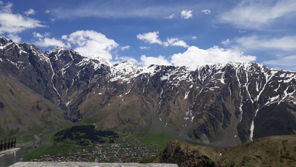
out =
<path fill-rule="evenodd" d="M 132 84 L 110 85 L 96 86 L 77 105 L 79 113 L 88 116 L 82 123 L 126 133 L 147 129 L 151 115 L 142 90 Z"/>

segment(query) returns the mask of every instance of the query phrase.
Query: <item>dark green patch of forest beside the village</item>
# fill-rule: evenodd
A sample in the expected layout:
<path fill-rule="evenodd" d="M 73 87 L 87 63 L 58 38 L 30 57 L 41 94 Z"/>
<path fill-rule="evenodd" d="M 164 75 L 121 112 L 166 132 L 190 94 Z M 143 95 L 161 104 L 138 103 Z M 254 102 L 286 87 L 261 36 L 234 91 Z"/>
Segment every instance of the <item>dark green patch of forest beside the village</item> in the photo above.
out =
<path fill-rule="evenodd" d="M 92 143 L 114 143 L 114 140 L 118 138 L 119 136 L 117 133 L 110 130 L 96 130 L 94 125 L 76 125 L 54 134 L 55 142 L 62 142 L 70 139 L 77 141 L 77 144 L 86 143 L 86 140 L 89 140 Z"/>

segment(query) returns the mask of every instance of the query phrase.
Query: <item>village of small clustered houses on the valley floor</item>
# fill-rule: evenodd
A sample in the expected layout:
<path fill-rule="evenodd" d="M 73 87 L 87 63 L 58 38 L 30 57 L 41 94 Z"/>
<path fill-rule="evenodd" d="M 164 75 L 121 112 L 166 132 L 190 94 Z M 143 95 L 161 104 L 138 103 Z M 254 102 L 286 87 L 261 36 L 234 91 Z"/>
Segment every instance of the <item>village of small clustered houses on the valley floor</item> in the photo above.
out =
<path fill-rule="evenodd" d="M 123 139 L 124 140 L 124 139 Z M 137 147 L 138 139 L 129 139 L 120 144 L 78 144 L 81 149 L 54 155 L 40 155 L 33 162 L 96 162 L 96 163 L 136 163 L 144 158 L 157 155 L 162 149 L 149 149 L 145 145 Z M 149 144 L 152 146 L 153 144 Z M 159 145 L 159 144 L 155 144 Z"/>

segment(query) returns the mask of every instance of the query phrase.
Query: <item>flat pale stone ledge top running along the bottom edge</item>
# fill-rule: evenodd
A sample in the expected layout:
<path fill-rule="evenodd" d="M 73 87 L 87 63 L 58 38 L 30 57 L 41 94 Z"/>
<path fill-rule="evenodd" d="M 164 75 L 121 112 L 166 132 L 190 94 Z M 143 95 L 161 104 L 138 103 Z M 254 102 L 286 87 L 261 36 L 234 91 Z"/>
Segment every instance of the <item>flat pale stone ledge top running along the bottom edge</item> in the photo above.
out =
<path fill-rule="evenodd" d="M 177 164 L 167 163 L 94 163 L 94 162 L 18 162 L 10 167 L 41 167 L 41 166 L 52 166 L 52 167 L 178 167 Z"/>

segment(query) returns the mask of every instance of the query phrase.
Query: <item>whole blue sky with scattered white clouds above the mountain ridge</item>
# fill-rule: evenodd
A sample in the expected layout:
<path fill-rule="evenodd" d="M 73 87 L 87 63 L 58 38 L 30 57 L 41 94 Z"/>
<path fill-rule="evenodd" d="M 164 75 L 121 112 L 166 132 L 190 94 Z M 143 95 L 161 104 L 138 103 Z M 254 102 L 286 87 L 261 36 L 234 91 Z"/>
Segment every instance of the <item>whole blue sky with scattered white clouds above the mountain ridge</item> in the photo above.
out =
<path fill-rule="evenodd" d="M 0 36 L 113 64 L 296 70 L 296 1 L 2 1 Z"/>

